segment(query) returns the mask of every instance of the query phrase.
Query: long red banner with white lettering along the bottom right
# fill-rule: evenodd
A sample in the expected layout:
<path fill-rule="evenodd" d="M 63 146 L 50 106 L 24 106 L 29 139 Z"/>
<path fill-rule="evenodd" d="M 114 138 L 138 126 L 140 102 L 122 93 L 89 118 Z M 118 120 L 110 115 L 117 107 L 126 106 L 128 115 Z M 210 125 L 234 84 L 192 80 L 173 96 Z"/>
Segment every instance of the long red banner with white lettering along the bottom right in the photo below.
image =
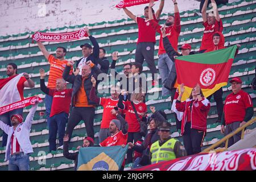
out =
<path fill-rule="evenodd" d="M 256 169 L 256 148 L 207 154 L 151 164 L 134 171 L 252 171 Z"/>

